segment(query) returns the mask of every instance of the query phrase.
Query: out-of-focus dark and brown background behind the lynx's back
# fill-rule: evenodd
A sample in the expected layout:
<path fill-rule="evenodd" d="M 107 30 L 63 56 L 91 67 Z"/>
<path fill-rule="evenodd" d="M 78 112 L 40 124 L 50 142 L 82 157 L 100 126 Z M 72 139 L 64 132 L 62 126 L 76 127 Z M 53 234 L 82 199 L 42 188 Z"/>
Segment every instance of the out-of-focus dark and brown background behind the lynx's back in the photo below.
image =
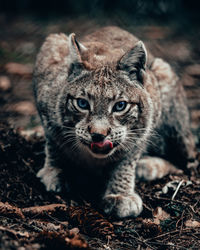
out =
<path fill-rule="evenodd" d="M 199 144 L 199 7 L 195 0 L 0 0 L 0 120 L 24 131 L 42 131 L 31 82 L 47 35 L 74 32 L 81 39 L 99 27 L 117 25 L 175 68 Z"/>

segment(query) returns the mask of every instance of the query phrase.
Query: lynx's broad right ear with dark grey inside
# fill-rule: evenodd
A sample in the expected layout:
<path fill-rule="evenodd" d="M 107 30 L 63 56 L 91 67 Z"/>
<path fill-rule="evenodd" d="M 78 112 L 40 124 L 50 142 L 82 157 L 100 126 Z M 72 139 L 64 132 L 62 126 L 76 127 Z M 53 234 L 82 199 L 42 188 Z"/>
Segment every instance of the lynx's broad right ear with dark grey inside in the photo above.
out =
<path fill-rule="evenodd" d="M 118 62 L 118 68 L 124 70 L 133 79 L 134 76 L 142 78 L 142 73 L 146 68 L 147 51 L 142 41 L 138 41 L 136 45 L 128 51 Z"/>

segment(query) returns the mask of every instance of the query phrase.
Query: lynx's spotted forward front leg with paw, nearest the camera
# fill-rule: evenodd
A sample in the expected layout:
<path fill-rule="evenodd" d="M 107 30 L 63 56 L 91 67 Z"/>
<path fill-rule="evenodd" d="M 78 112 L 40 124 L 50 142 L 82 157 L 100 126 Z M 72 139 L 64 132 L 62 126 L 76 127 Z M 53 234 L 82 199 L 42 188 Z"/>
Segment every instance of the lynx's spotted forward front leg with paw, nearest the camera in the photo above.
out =
<path fill-rule="evenodd" d="M 142 211 L 142 199 L 135 193 L 135 162 L 124 162 L 113 172 L 103 197 L 107 214 L 118 218 L 138 216 Z"/>

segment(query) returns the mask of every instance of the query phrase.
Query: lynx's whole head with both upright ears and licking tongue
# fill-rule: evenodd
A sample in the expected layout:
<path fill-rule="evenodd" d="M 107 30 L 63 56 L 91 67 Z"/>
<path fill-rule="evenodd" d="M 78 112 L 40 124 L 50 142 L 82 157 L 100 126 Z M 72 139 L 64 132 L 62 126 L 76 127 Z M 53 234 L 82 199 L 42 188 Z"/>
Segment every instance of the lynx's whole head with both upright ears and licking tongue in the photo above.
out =
<path fill-rule="evenodd" d="M 116 64 L 89 70 L 87 50 L 69 37 L 69 73 L 60 95 L 63 138 L 73 150 L 94 158 L 138 150 L 152 124 L 151 100 L 143 86 L 146 49 L 138 42 Z"/>

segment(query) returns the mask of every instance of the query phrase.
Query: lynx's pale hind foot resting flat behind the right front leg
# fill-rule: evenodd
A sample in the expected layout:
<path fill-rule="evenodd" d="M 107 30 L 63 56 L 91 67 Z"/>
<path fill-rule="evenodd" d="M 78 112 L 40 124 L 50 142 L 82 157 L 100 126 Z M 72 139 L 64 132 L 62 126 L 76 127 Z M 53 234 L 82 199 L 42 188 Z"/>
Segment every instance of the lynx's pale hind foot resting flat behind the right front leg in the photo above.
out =
<path fill-rule="evenodd" d="M 136 166 L 136 177 L 147 181 L 162 178 L 170 173 L 180 174 L 182 170 L 159 157 L 145 156 L 138 161 Z"/>

